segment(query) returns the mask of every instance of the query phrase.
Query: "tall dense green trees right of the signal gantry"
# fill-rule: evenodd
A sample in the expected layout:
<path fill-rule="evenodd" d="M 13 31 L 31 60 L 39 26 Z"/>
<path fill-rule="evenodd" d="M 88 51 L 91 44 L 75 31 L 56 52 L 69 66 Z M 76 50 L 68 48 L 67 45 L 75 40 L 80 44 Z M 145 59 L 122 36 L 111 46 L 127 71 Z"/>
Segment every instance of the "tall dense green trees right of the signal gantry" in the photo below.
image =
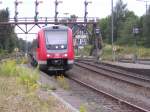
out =
<path fill-rule="evenodd" d="M 134 12 L 129 11 L 127 4 L 118 0 L 114 7 L 114 42 L 118 45 L 137 44 L 140 46 L 150 47 L 150 8 L 147 15 L 138 17 Z M 103 18 L 99 22 L 102 37 L 105 43 L 111 43 L 111 15 Z M 133 34 L 133 28 L 139 28 L 138 34 Z"/>

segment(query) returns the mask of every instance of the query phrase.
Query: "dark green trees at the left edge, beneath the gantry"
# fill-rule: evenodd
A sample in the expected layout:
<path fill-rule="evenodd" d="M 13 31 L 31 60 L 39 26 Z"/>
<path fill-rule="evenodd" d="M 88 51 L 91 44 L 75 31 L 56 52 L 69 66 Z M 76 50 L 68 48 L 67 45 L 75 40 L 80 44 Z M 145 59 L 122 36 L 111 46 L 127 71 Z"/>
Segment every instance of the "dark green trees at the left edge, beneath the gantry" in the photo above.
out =
<path fill-rule="evenodd" d="M 0 10 L 0 22 L 9 21 L 8 8 Z M 25 50 L 25 41 L 18 39 L 14 31 L 14 25 L 0 24 L 0 54 L 10 53 L 14 48 Z"/>

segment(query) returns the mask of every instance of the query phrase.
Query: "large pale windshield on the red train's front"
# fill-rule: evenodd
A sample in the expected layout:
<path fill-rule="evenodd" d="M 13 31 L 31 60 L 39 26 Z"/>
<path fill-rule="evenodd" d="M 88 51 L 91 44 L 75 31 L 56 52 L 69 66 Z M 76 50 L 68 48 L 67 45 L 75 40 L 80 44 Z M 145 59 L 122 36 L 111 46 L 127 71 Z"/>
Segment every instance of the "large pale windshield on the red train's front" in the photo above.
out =
<path fill-rule="evenodd" d="M 45 31 L 47 45 L 66 45 L 67 44 L 67 31 L 48 30 Z"/>

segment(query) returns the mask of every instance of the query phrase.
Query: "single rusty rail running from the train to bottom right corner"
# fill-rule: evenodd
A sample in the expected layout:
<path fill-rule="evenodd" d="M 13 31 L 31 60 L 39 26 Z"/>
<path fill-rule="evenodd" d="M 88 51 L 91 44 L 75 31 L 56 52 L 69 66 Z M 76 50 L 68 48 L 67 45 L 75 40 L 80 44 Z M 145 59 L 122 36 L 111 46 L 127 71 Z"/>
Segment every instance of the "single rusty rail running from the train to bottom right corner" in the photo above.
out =
<path fill-rule="evenodd" d="M 107 92 L 105 92 L 105 91 L 103 91 L 103 90 L 97 89 L 96 87 L 94 87 L 94 86 L 92 86 L 92 85 L 90 85 L 90 84 L 87 84 L 87 83 L 85 83 L 85 82 L 83 82 L 83 81 L 81 81 L 81 80 L 79 80 L 79 79 L 77 79 L 77 78 L 70 77 L 70 76 L 69 76 L 69 78 L 70 78 L 71 80 L 73 80 L 73 81 L 75 81 L 75 82 L 77 82 L 77 83 L 83 85 L 83 86 L 86 86 L 87 88 L 92 89 L 93 91 L 95 91 L 95 92 L 97 92 L 97 93 L 103 94 L 105 97 L 111 98 L 111 99 L 112 99 L 113 101 L 115 101 L 116 103 L 120 102 L 122 105 L 126 105 L 127 107 L 130 108 L 130 111 L 131 111 L 131 112 L 150 112 L 149 110 L 144 109 L 144 108 L 142 108 L 142 107 L 140 107 L 140 106 L 137 106 L 137 105 L 135 105 L 135 104 L 132 104 L 131 102 L 128 102 L 128 101 L 126 101 L 126 100 L 124 100 L 124 99 L 121 99 L 121 98 L 119 98 L 119 97 L 113 96 L 113 95 L 111 95 L 110 93 L 107 93 Z M 112 108 L 113 108 L 113 107 L 112 107 Z"/>

